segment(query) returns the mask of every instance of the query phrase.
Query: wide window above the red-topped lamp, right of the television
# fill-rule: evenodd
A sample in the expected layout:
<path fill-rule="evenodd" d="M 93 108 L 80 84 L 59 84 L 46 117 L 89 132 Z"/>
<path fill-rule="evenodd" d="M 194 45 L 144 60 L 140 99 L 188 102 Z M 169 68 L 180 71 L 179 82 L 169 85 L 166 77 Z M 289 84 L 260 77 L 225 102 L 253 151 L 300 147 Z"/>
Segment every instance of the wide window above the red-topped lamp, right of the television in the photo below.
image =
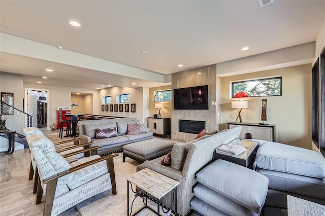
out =
<path fill-rule="evenodd" d="M 249 97 L 279 96 L 282 94 L 282 77 L 233 82 L 232 90 L 232 97 L 238 92 L 245 92 Z"/>

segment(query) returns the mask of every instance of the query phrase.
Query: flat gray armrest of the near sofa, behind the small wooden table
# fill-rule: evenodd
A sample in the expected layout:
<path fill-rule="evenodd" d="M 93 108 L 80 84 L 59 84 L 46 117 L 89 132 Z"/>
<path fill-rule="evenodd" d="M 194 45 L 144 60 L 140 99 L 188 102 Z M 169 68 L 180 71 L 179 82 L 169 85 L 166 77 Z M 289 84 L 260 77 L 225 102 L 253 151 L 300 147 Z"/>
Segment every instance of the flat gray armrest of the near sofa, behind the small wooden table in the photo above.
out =
<path fill-rule="evenodd" d="M 182 176 L 182 171 L 173 169 L 170 166 L 164 166 L 162 164 L 158 164 L 153 161 L 145 161 L 143 162 L 143 165 L 148 169 L 151 169 L 167 177 L 170 177 L 178 182 L 181 182 L 181 179 L 184 177 Z"/>

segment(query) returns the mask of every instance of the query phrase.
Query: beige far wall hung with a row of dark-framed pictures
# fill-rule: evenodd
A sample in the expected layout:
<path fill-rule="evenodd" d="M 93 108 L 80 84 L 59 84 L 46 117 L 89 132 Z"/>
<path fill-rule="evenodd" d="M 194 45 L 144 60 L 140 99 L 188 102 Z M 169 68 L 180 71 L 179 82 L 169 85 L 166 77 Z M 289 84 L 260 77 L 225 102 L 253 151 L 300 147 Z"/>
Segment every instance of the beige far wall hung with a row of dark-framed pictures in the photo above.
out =
<path fill-rule="evenodd" d="M 123 112 L 102 112 L 102 97 L 104 96 L 112 96 L 112 104 L 119 104 L 116 103 L 116 95 L 117 94 L 130 94 L 130 102 L 129 104 L 129 112 L 125 112 L 125 103 L 123 104 Z M 98 105 L 99 105 L 99 115 L 103 116 L 113 116 L 113 117 L 132 117 L 132 118 L 137 118 L 139 121 L 145 122 L 148 118 L 148 113 L 144 112 L 143 110 L 148 106 L 147 101 L 149 98 L 149 91 L 147 88 L 125 88 L 125 87 L 111 87 L 111 88 L 106 88 L 102 89 L 99 91 L 99 100 L 98 100 Z M 131 103 L 136 104 L 136 112 L 132 113 L 131 112 Z"/>

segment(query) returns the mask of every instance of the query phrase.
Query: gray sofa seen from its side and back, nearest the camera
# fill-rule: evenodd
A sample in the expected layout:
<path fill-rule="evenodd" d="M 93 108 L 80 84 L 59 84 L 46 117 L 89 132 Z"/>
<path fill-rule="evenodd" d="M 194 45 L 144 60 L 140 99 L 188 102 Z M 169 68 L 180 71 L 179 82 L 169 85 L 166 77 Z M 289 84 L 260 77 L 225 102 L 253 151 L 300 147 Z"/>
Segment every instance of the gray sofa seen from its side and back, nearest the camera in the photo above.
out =
<path fill-rule="evenodd" d="M 161 160 L 164 159 L 162 156 L 145 161 L 137 166 L 137 171 L 149 168 L 178 181 L 180 184 L 177 189 L 177 211 L 179 214 L 185 215 L 191 209 L 192 189 L 197 183 L 196 173 L 211 163 L 216 147 L 238 138 L 241 129 L 242 127 L 239 126 L 213 135 L 205 135 L 186 143 L 175 143 L 172 149 L 171 166 L 161 164 Z M 161 201 L 165 206 L 170 207 L 173 201 L 173 192 L 164 196 Z M 174 204 L 171 208 L 175 210 Z"/>

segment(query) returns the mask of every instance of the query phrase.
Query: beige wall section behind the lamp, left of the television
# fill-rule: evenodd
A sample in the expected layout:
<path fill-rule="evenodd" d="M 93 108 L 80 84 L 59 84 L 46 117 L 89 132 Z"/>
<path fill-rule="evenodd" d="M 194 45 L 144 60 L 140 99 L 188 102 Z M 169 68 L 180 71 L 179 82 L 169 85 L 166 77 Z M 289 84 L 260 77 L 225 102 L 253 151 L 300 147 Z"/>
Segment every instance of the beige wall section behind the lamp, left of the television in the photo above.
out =
<path fill-rule="evenodd" d="M 168 86 L 160 86 L 156 88 L 149 89 L 149 117 L 153 117 L 154 114 L 158 114 L 158 109 L 155 109 L 154 104 L 154 95 L 156 91 L 164 91 L 164 90 L 171 90 L 172 85 Z M 164 108 L 160 110 L 160 114 L 162 118 L 171 118 L 172 117 L 172 101 L 166 102 L 157 102 L 157 103 L 164 103 Z"/>

